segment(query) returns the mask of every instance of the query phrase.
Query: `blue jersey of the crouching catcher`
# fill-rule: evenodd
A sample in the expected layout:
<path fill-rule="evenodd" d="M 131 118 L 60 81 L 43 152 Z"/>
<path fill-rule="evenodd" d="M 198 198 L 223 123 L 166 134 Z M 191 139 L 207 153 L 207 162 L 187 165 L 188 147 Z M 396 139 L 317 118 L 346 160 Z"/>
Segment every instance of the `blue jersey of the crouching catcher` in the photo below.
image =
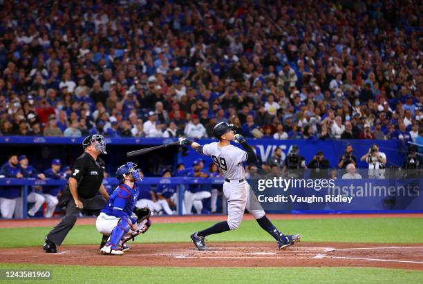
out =
<path fill-rule="evenodd" d="M 115 217 L 122 217 L 122 214 L 118 213 L 122 212 L 124 216 L 130 218 L 138 200 L 138 194 L 140 191 L 136 185 L 131 189 L 126 184 L 120 184 L 113 191 L 109 203 L 102 209 L 102 212 Z"/>

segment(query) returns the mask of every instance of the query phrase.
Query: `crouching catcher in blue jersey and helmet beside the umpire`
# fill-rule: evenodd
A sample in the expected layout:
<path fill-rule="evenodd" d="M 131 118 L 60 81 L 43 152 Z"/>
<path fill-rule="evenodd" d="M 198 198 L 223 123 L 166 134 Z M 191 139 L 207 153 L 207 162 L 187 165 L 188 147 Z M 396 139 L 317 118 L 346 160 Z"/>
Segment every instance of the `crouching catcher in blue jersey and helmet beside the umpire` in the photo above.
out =
<path fill-rule="evenodd" d="M 142 181 L 135 167 L 136 164 L 128 162 L 118 168 L 116 178 L 120 184 L 113 191 L 109 204 L 97 217 L 95 226 L 103 234 L 100 244 L 102 254 L 122 255 L 128 252 L 129 245 L 126 242 L 144 234 L 151 226 L 150 210 L 135 207 L 140 193 L 135 182 Z"/>

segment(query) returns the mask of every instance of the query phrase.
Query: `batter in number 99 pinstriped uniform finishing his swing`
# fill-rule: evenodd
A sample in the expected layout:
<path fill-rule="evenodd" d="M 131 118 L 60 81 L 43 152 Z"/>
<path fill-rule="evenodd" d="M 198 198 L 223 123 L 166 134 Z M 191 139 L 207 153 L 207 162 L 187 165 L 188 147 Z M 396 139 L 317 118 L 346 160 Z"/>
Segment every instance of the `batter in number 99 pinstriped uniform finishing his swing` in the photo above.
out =
<path fill-rule="evenodd" d="M 276 229 L 265 216 L 265 211 L 254 195 L 250 184 L 245 180 L 243 162 L 256 162 L 257 157 L 243 136 L 234 133 L 232 126 L 232 124 L 227 124 L 226 122 L 220 122 L 214 126 L 213 133 L 219 142 L 200 145 L 187 138 L 179 138 L 180 144 L 187 144 L 197 153 L 211 156 L 213 162 L 217 164 L 222 170 L 223 176 L 225 176 L 223 194 L 225 194 L 228 205 L 227 221 L 217 223 L 203 231 L 192 234 L 191 240 L 197 249 L 207 250 L 205 237 L 237 229 L 241 224 L 241 220 L 243 220 L 244 210 L 247 209 L 256 218 L 260 227 L 275 238 L 279 249 L 294 245 L 294 243 L 299 242 L 301 234 L 284 235 Z M 239 142 L 245 151 L 231 145 L 230 142 L 233 140 Z"/>

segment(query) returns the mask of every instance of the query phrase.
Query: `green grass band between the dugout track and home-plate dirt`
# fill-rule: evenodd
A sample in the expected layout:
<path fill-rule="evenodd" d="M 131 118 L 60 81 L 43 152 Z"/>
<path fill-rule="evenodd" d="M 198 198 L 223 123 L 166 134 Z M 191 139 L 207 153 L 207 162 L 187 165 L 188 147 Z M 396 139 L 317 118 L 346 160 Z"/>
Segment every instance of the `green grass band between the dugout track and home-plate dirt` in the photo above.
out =
<path fill-rule="evenodd" d="M 189 234 L 204 229 L 213 222 L 153 224 L 147 234 L 138 238 L 140 243 L 184 243 Z M 420 218 L 342 218 L 314 220 L 274 220 L 284 233 L 303 234 L 304 242 L 348 243 L 423 243 Z M 0 247 L 28 247 L 41 245 L 51 227 L 2 228 Z M 273 241 L 255 221 L 244 221 L 236 231 L 227 231 L 207 237 L 214 242 Z M 95 226 L 74 227 L 64 245 L 100 243 Z"/>

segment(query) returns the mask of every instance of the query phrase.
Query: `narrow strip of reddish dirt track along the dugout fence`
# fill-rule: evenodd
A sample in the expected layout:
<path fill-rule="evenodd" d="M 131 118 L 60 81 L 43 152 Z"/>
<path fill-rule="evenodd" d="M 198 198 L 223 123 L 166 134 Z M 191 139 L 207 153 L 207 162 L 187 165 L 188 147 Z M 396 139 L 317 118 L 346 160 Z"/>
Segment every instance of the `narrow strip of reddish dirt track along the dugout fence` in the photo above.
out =
<path fill-rule="evenodd" d="M 266 214 L 270 220 L 303 220 L 303 219 L 335 219 L 335 218 L 423 218 L 423 214 Z M 186 223 L 201 221 L 223 221 L 226 215 L 190 215 L 190 216 L 153 216 L 156 223 Z M 254 220 L 250 214 L 245 214 L 243 220 Z M 0 220 L 0 228 L 44 227 L 54 226 L 58 218 L 30 218 L 19 220 Z M 95 218 L 78 218 L 76 225 L 95 225 Z"/>

